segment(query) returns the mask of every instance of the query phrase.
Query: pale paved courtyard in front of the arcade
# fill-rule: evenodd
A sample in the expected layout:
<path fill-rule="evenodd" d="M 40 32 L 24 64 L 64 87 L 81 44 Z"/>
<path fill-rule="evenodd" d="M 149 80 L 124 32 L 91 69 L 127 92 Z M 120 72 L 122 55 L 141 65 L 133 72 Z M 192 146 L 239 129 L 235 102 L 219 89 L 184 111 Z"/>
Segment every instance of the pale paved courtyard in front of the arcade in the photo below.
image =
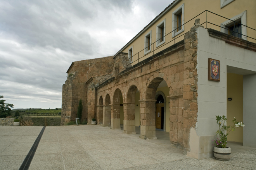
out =
<path fill-rule="evenodd" d="M 18 170 L 41 130 L 0 126 L 0 170 Z M 230 161 L 196 160 L 170 144 L 166 132 L 156 131 L 156 140 L 138 136 L 100 125 L 47 126 L 29 170 L 256 170 L 256 148 L 232 143 L 239 152 Z"/>

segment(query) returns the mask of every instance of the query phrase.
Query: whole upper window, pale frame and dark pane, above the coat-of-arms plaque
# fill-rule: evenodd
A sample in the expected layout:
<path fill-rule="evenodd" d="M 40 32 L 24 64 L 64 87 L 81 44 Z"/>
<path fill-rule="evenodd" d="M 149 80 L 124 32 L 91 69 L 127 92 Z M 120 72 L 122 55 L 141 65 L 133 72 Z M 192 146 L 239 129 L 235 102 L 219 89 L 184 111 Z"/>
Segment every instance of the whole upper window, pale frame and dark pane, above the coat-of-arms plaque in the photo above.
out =
<path fill-rule="evenodd" d="M 222 22 L 220 26 L 221 32 L 247 40 L 246 11 Z"/>

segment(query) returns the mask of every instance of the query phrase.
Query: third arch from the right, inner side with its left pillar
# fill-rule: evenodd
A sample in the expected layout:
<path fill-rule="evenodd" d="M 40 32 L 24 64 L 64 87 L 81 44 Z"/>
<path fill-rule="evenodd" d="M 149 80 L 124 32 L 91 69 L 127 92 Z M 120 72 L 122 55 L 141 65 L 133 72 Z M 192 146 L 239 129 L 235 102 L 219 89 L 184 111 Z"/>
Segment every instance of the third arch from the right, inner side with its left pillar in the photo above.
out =
<path fill-rule="evenodd" d="M 120 129 L 120 98 L 122 92 L 116 88 L 111 104 L 111 129 Z"/>

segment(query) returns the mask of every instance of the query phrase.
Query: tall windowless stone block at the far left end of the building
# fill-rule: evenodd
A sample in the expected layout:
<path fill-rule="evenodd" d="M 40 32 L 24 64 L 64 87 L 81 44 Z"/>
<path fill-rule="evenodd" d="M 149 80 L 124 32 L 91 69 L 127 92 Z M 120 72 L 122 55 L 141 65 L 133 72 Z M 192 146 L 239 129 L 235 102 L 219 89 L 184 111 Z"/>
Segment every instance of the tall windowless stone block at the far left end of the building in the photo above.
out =
<path fill-rule="evenodd" d="M 75 120 L 79 100 L 82 99 L 82 119 L 87 119 L 87 82 L 92 76 L 108 73 L 113 68 L 113 56 L 75 61 L 67 71 L 67 80 L 62 86 L 62 115 L 64 122 Z"/>

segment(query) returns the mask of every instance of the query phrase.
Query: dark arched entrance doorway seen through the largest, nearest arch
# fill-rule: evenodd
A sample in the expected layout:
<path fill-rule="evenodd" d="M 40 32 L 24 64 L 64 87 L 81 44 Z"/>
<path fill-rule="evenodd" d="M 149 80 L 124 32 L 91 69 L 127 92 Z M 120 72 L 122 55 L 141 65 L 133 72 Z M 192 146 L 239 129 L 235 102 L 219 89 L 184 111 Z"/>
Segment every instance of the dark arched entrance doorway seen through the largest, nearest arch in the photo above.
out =
<path fill-rule="evenodd" d="M 159 95 L 156 100 L 156 129 L 164 129 L 164 98 Z"/>

